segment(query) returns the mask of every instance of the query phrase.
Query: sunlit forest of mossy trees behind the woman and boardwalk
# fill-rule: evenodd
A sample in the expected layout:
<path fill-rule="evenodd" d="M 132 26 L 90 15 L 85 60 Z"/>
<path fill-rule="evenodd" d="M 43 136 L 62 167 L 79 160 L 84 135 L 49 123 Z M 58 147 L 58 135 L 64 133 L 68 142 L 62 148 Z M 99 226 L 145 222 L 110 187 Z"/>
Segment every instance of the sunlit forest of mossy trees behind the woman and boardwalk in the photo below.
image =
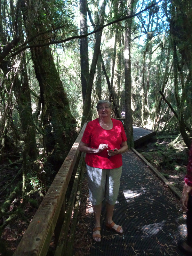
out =
<path fill-rule="evenodd" d="M 191 9 L 190 0 L 0 1 L 0 255 L 4 229 L 28 225 L 98 100 L 114 118 L 125 113 L 129 148 L 134 124 L 176 134 L 187 156 Z"/>

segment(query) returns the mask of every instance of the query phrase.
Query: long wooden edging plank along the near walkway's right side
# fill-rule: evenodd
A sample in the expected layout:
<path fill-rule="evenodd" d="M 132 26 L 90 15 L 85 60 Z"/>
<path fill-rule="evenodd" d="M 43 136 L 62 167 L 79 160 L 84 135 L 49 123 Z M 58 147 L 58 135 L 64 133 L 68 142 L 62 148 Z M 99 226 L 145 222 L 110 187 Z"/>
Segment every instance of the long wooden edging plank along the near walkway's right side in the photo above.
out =
<path fill-rule="evenodd" d="M 149 167 L 161 180 L 163 180 L 163 182 L 172 190 L 172 192 L 173 192 L 176 196 L 178 196 L 179 198 L 181 198 L 182 194 L 181 194 L 181 192 L 179 191 L 178 188 L 175 188 L 175 186 L 172 185 L 160 172 L 158 172 L 157 169 L 156 169 L 153 165 L 151 165 L 143 156 L 141 156 L 141 154 L 140 154 L 139 152 L 137 152 L 137 150 L 135 150 L 134 148 L 131 148 L 131 149 L 132 149 L 132 151 L 133 151 L 136 155 L 138 155 L 138 156 L 142 159 L 142 161 L 143 161 L 145 164 L 148 165 L 148 167 Z"/>

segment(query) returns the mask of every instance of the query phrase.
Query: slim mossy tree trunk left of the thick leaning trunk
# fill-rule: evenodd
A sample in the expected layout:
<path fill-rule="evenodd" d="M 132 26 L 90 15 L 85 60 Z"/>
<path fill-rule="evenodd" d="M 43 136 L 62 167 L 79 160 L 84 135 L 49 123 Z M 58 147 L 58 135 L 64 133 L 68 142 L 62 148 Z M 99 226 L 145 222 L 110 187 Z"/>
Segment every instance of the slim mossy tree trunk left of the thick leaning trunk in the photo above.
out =
<path fill-rule="evenodd" d="M 31 94 L 28 83 L 28 74 L 26 69 L 25 54 L 22 56 L 21 81 L 18 77 L 14 82 L 14 95 L 18 104 L 18 112 L 21 121 L 21 132 L 25 142 L 23 147 L 23 166 L 22 166 L 22 192 L 25 196 L 27 187 L 27 174 L 34 174 L 38 171 L 38 166 L 35 164 L 39 153 L 36 144 L 36 127 L 33 120 L 31 107 Z"/>

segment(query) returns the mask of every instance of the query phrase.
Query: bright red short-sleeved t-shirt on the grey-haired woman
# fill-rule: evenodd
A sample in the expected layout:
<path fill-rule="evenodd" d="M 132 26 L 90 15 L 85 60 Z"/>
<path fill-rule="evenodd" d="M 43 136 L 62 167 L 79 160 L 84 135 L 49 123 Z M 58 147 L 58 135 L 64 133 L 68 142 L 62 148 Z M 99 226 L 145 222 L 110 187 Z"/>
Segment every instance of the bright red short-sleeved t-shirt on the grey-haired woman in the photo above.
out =
<path fill-rule="evenodd" d="M 100 153 L 87 153 L 85 156 L 87 165 L 100 169 L 115 169 L 122 166 L 121 154 L 108 158 L 107 150 L 120 149 L 121 143 L 127 140 L 122 122 L 113 118 L 111 120 L 113 122 L 111 130 L 103 129 L 99 124 L 99 118 L 87 124 L 82 138 L 85 144 L 90 148 L 98 148 L 101 143 L 108 144 L 108 148 Z"/>

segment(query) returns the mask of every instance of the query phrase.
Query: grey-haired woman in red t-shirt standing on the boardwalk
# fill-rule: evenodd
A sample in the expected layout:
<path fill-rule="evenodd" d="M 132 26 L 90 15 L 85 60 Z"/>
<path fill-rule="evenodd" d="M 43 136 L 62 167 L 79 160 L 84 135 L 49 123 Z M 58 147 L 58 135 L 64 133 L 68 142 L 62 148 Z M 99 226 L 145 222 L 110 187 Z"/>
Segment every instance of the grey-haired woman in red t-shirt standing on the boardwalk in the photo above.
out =
<path fill-rule="evenodd" d="M 128 150 L 128 146 L 122 122 L 111 118 L 111 103 L 100 100 L 96 108 L 99 118 L 87 124 L 79 150 L 86 153 L 89 199 L 95 219 L 92 237 L 95 242 L 100 242 L 100 214 L 104 198 L 106 227 L 123 234 L 123 228 L 113 222 L 113 210 L 122 173 L 121 154 Z"/>

